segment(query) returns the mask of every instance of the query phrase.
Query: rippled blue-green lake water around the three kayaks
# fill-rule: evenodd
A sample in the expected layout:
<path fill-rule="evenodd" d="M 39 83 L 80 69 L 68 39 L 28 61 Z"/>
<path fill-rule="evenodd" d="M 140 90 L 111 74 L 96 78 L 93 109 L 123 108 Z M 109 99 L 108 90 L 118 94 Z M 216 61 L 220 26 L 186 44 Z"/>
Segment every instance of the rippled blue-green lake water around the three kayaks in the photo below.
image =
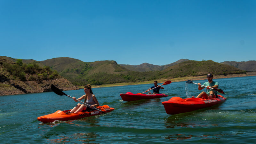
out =
<path fill-rule="evenodd" d="M 206 80 L 193 82 L 203 83 Z M 161 104 L 187 98 L 185 82 L 163 85 L 168 97 L 125 102 L 120 93 L 144 92 L 153 84 L 93 88 L 100 105 L 115 108 L 100 116 L 43 124 L 38 116 L 71 109 L 76 102 L 54 92 L 1 96 L 1 143 L 255 143 L 256 76 L 215 79 L 227 100 L 219 106 L 168 115 Z M 187 86 L 191 95 L 199 91 Z M 205 91 L 205 89 L 203 89 Z M 64 91 L 79 98 L 83 89 Z"/>

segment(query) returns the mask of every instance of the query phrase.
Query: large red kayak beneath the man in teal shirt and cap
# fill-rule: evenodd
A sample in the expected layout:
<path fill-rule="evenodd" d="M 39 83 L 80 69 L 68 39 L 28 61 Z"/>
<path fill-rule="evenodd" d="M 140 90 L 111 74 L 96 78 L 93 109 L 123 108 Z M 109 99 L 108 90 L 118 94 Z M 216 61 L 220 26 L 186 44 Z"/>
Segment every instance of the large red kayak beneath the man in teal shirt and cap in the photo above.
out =
<path fill-rule="evenodd" d="M 214 105 L 223 103 L 225 100 L 226 98 L 222 97 L 221 95 L 218 95 L 218 98 L 209 100 L 200 98 L 182 99 L 180 97 L 172 97 L 170 100 L 162 102 L 162 104 L 164 105 L 164 109 L 167 114 L 175 115 L 201 108 L 212 107 Z"/>

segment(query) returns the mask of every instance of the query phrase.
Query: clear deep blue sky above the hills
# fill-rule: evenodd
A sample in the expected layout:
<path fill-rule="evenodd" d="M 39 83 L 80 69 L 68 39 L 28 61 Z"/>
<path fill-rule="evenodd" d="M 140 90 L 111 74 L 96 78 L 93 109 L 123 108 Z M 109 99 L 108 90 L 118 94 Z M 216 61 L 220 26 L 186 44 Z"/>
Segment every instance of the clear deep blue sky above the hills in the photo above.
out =
<path fill-rule="evenodd" d="M 0 56 L 255 60 L 255 0 L 0 0 Z"/>

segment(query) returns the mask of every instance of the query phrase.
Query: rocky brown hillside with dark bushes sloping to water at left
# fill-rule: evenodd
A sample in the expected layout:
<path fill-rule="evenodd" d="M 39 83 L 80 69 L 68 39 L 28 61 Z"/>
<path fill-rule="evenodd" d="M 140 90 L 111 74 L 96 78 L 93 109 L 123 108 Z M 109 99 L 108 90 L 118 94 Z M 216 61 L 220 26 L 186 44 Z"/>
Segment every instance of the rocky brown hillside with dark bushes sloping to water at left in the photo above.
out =
<path fill-rule="evenodd" d="M 78 89 L 56 70 L 39 61 L 0 56 L 0 96 L 50 92 L 51 84 L 58 86 L 60 90 Z"/>

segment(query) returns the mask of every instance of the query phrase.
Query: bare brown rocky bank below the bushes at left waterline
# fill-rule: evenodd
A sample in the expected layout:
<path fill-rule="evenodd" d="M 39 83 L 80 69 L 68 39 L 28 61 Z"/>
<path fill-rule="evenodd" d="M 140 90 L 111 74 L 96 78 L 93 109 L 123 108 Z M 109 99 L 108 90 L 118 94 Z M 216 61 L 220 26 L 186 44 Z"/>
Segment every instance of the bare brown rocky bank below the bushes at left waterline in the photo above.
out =
<path fill-rule="evenodd" d="M 4 81 L 0 82 L 0 96 L 38 93 L 38 92 L 52 92 L 51 84 L 55 85 L 62 91 L 78 90 L 79 88 L 69 82 L 67 79 L 54 79 L 42 81 Z"/>

